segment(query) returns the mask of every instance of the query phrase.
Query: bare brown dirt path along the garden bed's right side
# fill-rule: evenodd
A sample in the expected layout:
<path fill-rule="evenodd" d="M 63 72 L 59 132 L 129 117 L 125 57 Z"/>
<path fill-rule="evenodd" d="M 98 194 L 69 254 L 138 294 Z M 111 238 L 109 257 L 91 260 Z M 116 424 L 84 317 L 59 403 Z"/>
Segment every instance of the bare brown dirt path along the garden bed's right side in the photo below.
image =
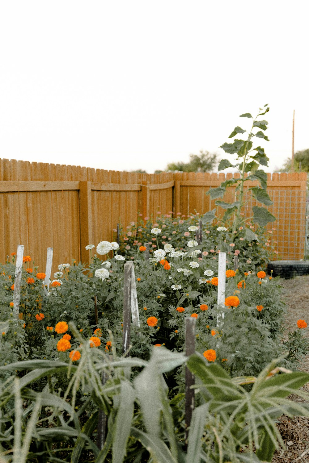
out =
<path fill-rule="evenodd" d="M 283 288 L 283 296 L 287 304 L 288 313 L 286 329 L 294 331 L 296 322 L 303 319 L 309 326 L 309 275 L 297 276 L 291 280 L 280 280 Z M 309 327 L 303 333 L 309 338 Z M 309 354 L 303 359 L 300 369 L 309 373 Z M 303 388 L 309 392 L 309 383 Z M 298 396 L 290 396 L 297 402 L 304 400 Z M 309 463 L 309 418 L 296 417 L 290 419 L 282 416 L 278 423 L 286 450 L 275 452 L 272 463 Z"/>

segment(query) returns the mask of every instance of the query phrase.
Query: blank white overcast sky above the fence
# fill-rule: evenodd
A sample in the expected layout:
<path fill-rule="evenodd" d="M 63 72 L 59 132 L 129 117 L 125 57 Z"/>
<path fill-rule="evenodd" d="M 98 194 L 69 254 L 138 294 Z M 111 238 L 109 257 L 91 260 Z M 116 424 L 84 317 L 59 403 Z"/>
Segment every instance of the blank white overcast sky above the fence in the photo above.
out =
<path fill-rule="evenodd" d="M 164 169 L 270 104 L 270 169 L 309 148 L 308 1 L 0 0 L 0 157 Z M 244 127 L 247 128 L 247 127 Z"/>

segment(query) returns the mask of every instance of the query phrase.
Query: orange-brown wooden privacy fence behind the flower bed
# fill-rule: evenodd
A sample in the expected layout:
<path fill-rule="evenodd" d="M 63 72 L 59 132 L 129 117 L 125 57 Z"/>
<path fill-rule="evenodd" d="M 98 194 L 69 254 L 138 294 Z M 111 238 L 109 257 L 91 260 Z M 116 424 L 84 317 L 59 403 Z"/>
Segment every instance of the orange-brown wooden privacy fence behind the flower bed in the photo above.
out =
<path fill-rule="evenodd" d="M 54 248 L 53 271 L 72 258 L 88 262 L 87 244 L 114 240 L 117 223 L 136 222 L 138 213 L 145 218 L 213 209 L 214 201 L 205 193 L 229 177 L 232 174 L 139 174 L 0 159 L 0 262 L 16 252 L 18 244 L 25 245 L 25 254 L 40 270 L 48 247 Z M 306 181 L 306 173 L 268 174 L 267 191 L 274 201 L 268 209 L 277 217 L 271 226 L 281 258 L 303 257 Z M 233 199 L 233 188 L 224 199 Z M 247 204 L 246 216 L 254 204 Z"/>

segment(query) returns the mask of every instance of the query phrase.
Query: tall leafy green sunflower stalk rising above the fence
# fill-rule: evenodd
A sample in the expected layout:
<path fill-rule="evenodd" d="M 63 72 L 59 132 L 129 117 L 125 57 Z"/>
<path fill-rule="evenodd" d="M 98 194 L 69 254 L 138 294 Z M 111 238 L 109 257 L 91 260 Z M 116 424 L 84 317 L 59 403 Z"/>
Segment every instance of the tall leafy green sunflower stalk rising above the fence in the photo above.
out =
<path fill-rule="evenodd" d="M 268 122 L 265 119 L 259 120 L 261 116 L 268 113 L 269 107 L 266 104 L 263 108 L 259 109 L 259 113 L 255 119 L 253 119 L 250 113 L 241 114 L 241 118 L 252 119 L 252 127 L 250 131 L 242 129 L 240 126 L 234 128 L 229 138 L 234 138 L 238 134 L 247 133 L 246 139 L 234 138 L 233 143 L 224 143 L 221 148 L 228 154 L 237 155 L 236 163 L 232 164 L 228 159 L 222 159 L 220 161 L 218 170 L 224 170 L 228 167 L 237 168 L 240 173 L 240 178 L 231 178 L 223 181 L 218 188 L 211 188 L 207 194 L 210 195 L 211 199 L 223 198 L 228 187 L 236 186 L 235 198 L 232 203 L 227 203 L 223 200 L 215 201 L 216 206 L 221 206 L 226 210 L 223 221 L 226 221 L 233 214 L 233 227 L 232 231 L 235 232 L 239 229 L 246 220 L 241 216 L 241 210 L 246 205 L 251 197 L 257 200 L 259 203 L 265 206 L 270 206 L 272 201 L 266 192 L 267 187 L 267 174 L 260 166 L 267 167 L 269 158 L 265 154 L 264 148 L 257 146 L 253 148 L 253 141 L 256 138 L 263 138 L 269 141 L 265 135 L 267 130 Z M 256 131 L 256 129 L 259 129 Z M 255 187 L 249 187 L 245 191 L 245 183 L 248 181 L 258 181 L 259 185 Z M 251 196 L 252 195 L 252 196 Z M 276 218 L 264 207 L 264 206 L 253 206 L 252 217 L 254 223 L 260 226 L 265 226 L 268 222 L 273 222 Z M 246 229 L 247 239 L 256 239 L 254 233 L 250 229 Z"/>

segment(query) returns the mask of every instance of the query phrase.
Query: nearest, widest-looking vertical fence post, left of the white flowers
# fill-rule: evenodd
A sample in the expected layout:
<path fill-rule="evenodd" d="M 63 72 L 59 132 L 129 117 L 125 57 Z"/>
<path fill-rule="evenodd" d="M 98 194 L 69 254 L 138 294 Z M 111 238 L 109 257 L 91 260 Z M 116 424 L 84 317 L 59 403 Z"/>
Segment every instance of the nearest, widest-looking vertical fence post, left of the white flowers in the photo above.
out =
<path fill-rule="evenodd" d="M 90 250 L 85 249 L 92 244 L 92 207 L 91 207 L 91 182 L 79 182 L 79 221 L 80 221 L 80 245 L 82 263 L 90 262 Z"/>

